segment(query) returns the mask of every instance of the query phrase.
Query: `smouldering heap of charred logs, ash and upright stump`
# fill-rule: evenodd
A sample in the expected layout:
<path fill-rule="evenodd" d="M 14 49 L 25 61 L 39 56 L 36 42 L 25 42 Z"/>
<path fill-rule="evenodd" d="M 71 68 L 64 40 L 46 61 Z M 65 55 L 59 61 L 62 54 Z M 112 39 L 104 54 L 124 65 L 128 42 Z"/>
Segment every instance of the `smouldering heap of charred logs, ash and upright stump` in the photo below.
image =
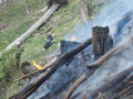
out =
<path fill-rule="evenodd" d="M 92 38 L 89 38 L 82 44 L 61 41 L 58 59 L 48 68 L 40 70 L 41 74 L 38 77 L 33 77 L 28 87 L 19 92 L 16 98 L 108 99 L 110 97 L 110 99 L 112 99 L 123 94 L 121 92 L 122 90 L 126 91 L 132 89 L 131 84 L 127 84 L 127 86 L 125 82 L 123 84 L 133 70 L 132 65 L 127 65 L 124 62 L 123 65 L 125 65 L 125 67 L 122 69 L 120 68 L 120 63 L 112 63 L 115 61 L 113 56 L 122 56 L 122 54 L 120 54 L 121 52 L 132 52 L 132 36 L 125 43 L 112 48 L 113 41 L 108 26 L 95 26 L 92 31 Z M 125 45 L 127 42 L 131 43 L 130 46 Z M 89 46 L 90 44 L 93 46 Z M 100 57 L 98 53 L 101 54 L 100 56 L 103 56 Z M 99 59 L 93 57 L 93 55 Z M 126 55 L 124 57 L 129 58 Z M 93 64 L 94 67 L 89 64 L 91 59 L 98 59 Z M 119 59 L 121 62 L 122 58 Z M 131 62 L 131 58 L 127 62 Z M 103 68 L 104 72 L 102 70 Z M 98 82 L 100 84 L 98 85 Z"/>

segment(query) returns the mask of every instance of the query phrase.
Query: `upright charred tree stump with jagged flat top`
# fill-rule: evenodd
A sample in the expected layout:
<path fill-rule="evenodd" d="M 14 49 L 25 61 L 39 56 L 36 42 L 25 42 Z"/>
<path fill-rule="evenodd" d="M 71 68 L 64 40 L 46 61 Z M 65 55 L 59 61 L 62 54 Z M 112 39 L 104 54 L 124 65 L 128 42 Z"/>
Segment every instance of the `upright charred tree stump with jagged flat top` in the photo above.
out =
<path fill-rule="evenodd" d="M 113 47 L 113 38 L 110 35 L 109 26 L 92 28 L 92 45 L 95 59 L 100 58 Z"/>

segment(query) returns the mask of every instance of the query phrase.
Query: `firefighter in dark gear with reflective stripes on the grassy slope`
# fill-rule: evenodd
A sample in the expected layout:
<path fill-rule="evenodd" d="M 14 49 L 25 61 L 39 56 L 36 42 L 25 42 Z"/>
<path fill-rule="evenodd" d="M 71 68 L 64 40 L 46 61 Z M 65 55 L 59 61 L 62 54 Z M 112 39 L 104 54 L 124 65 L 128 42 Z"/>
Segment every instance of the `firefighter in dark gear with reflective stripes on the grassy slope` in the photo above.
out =
<path fill-rule="evenodd" d="M 48 50 L 51 45 L 53 45 L 53 36 L 51 33 L 49 33 L 48 37 L 44 40 L 44 51 Z"/>

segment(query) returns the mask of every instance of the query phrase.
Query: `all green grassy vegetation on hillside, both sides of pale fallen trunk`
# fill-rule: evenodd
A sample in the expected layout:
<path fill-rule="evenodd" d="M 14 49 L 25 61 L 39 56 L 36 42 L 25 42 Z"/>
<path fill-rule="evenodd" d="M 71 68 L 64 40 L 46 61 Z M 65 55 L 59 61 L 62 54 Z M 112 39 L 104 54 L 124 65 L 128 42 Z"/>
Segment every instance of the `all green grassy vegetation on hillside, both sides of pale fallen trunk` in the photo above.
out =
<path fill-rule="evenodd" d="M 37 4 L 38 3 L 38 4 Z M 95 2 L 88 2 L 89 14 L 95 12 Z M 0 23 L 6 23 L 7 26 L 0 30 L 0 51 L 4 50 L 13 40 L 24 33 L 43 13 L 37 14 L 45 7 L 44 0 L 29 0 L 30 14 L 27 14 L 25 3 L 17 0 L 13 7 L 0 10 Z M 75 9 L 76 8 L 76 9 Z M 24 42 L 24 53 L 21 57 L 21 63 L 35 61 L 43 62 L 48 54 L 53 52 L 58 43 L 62 40 L 65 33 L 70 33 L 71 29 L 80 22 L 81 0 L 70 0 L 70 4 L 60 8 L 50 19 L 50 21 Z M 44 31 L 53 26 L 51 33 L 55 44 L 47 52 L 43 51 L 44 38 L 48 35 Z M 16 69 L 16 52 L 17 47 L 3 54 L 0 62 L 0 85 L 6 85 L 18 78 Z M 14 85 L 13 85 L 14 86 Z M 9 90 L 10 90 L 9 86 Z M 16 86 L 17 87 L 17 86 Z"/>

